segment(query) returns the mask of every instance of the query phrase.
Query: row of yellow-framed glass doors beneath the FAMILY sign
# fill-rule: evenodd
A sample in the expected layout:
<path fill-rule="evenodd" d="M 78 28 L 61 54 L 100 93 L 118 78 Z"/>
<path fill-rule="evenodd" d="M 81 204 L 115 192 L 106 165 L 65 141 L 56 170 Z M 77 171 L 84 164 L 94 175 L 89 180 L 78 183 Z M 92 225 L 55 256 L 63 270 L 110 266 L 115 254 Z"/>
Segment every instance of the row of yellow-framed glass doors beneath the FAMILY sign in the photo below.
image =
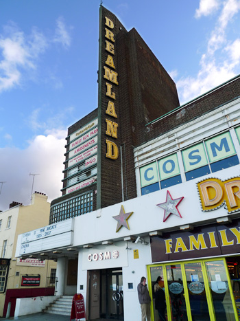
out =
<path fill-rule="evenodd" d="M 229 266 L 235 264 L 227 264 L 225 258 L 222 258 L 149 267 L 149 293 L 154 303 L 152 320 L 159 320 L 154 299 L 154 291 L 158 288 L 156 283 L 165 291 L 167 304 L 165 316 L 162 312 L 163 318 L 160 320 L 240 320 L 228 273 Z"/>

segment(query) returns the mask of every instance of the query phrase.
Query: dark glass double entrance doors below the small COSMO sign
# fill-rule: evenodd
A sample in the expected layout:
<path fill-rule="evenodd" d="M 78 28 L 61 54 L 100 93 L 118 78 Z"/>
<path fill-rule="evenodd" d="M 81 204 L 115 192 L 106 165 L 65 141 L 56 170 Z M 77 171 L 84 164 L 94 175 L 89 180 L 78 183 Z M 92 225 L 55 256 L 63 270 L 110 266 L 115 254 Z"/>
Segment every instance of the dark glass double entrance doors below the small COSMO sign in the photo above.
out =
<path fill-rule="evenodd" d="M 123 273 L 121 269 L 101 270 L 101 318 L 123 320 Z"/>

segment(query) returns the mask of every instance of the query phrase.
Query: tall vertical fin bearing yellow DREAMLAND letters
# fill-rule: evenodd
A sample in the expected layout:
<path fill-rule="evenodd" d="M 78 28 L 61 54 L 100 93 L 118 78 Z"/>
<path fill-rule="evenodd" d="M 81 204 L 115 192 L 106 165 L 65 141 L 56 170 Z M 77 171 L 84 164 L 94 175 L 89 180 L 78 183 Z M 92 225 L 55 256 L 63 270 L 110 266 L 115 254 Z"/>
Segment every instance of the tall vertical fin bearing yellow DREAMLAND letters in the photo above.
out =
<path fill-rule="evenodd" d="M 104 207 L 104 199 L 112 193 L 121 201 L 120 134 L 119 131 L 119 61 L 118 34 L 125 28 L 117 17 L 102 5 L 99 15 L 99 71 L 98 71 L 98 120 L 99 140 L 97 157 L 97 208 Z M 101 184 L 104 177 L 104 184 Z M 113 180 L 112 177 L 115 177 Z M 109 195 L 107 195 L 109 194 Z M 110 204 L 108 204 L 110 205 Z"/>

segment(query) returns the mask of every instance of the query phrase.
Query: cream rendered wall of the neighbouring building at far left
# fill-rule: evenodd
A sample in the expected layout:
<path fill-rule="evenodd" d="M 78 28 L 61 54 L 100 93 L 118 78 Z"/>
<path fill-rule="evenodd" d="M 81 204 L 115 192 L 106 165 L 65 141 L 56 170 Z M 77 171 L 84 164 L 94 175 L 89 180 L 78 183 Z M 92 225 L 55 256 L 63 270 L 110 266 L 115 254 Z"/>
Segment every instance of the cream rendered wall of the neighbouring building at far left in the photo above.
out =
<path fill-rule="evenodd" d="M 8 244 L 5 258 L 12 258 L 6 290 L 21 289 L 21 276 L 25 274 L 40 274 L 40 287 L 45 287 L 46 276 L 50 276 L 51 269 L 56 269 L 56 263 L 49 260 L 46 260 L 45 267 L 16 265 L 16 258 L 14 257 L 18 235 L 47 225 L 49 223 L 49 211 L 50 203 L 47 202 L 47 196 L 34 193 L 29 206 L 15 206 L 0 213 L 0 219 L 2 219 L 0 251 L 2 252 L 3 241 L 7 239 Z M 6 229 L 9 216 L 12 216 L 11 225 L 10 228 Z M 16 272 L 19 272 L 19 276 L 16 276 Z M 4 302 L 5 294 L 0 294 L 0 316 L 3 316 Z"/>

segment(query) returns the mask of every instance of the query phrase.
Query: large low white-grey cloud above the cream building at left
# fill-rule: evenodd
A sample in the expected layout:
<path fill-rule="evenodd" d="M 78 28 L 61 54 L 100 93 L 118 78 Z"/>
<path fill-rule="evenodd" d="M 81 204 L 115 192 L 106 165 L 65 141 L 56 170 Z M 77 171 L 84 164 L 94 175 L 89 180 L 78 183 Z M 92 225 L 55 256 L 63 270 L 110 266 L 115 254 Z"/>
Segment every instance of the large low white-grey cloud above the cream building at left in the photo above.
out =
<path fill-rule="evenodd" d="M 49 135 L 38 135 L 29 142 L 29 146 L 18 148 L 0 148 L 1 181 L 0 210 L 6 210 L 12 201 L 23 205 L 30 203 L 32 179 L 36 175 L 34 190 L 44 192 L 49 201 L 62 195 L 62 170 L 64 169 L 64 145 L 66 131 L 55 130 Z"/>

